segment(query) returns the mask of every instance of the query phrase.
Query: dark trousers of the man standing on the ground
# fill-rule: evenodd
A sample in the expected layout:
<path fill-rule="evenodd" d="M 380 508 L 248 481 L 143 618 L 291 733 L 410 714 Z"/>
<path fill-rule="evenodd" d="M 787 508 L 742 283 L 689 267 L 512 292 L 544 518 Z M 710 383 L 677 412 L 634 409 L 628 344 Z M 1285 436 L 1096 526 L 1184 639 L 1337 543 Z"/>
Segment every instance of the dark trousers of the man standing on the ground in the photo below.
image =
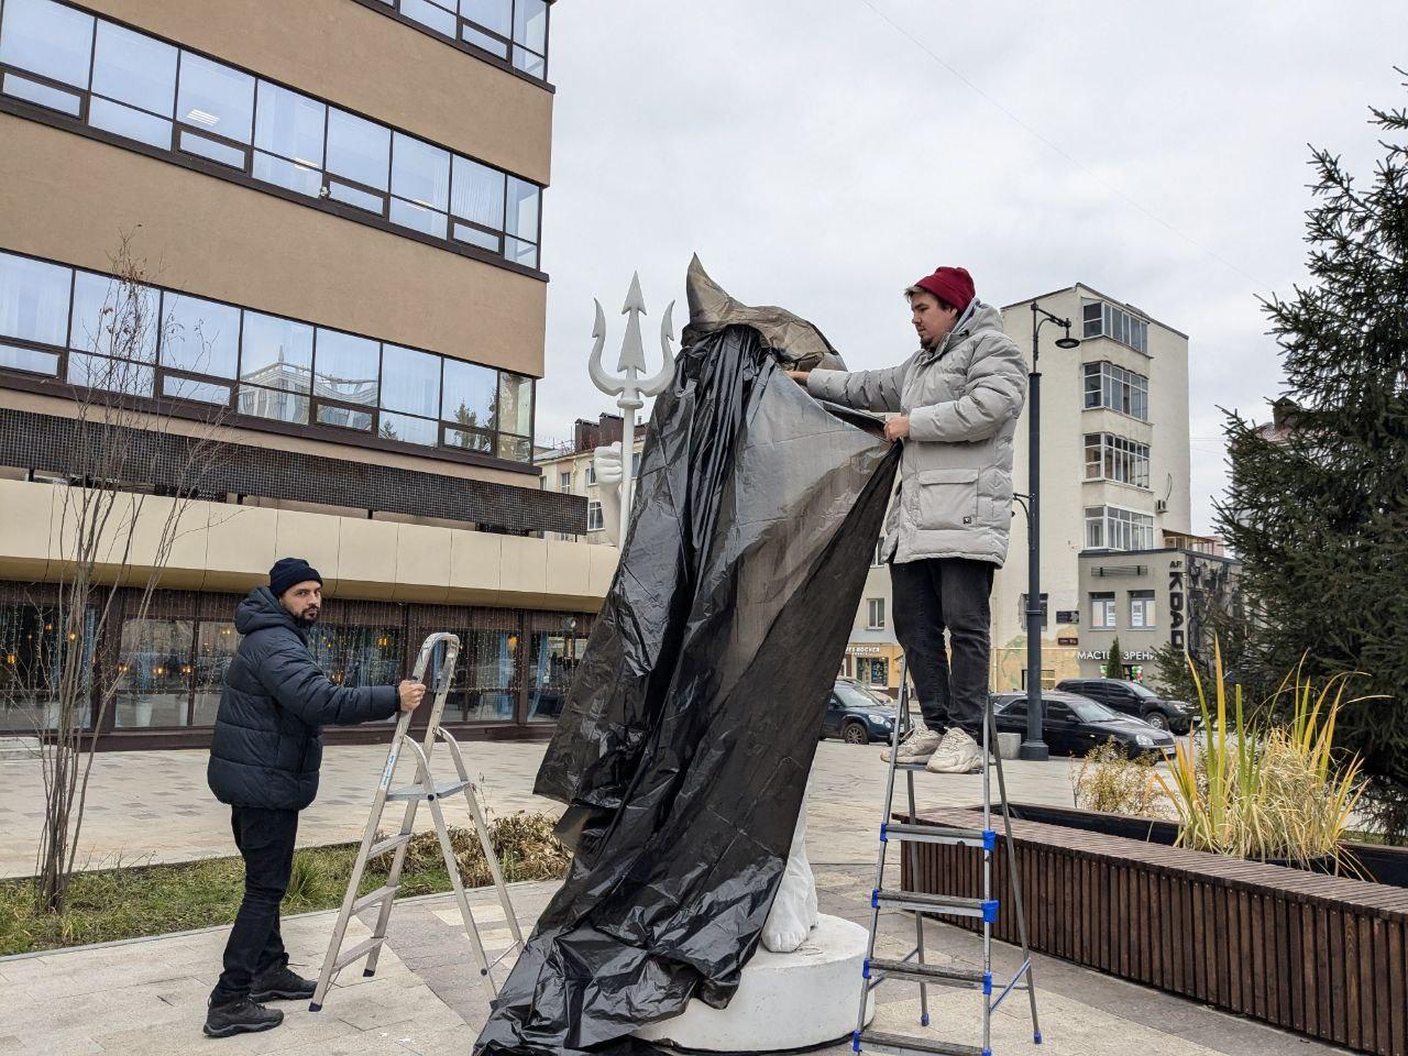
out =
<path fill-rule="evenodd" d="M 256 974 L 289 963 L 279 934 L 279 903 L 293 869 L 298 811 L 231 807 L 230 826 L 245 859 L 245 898 L 225 943 L 225 970 L 210 994 L 217 1005 L 248 997 Z"/>

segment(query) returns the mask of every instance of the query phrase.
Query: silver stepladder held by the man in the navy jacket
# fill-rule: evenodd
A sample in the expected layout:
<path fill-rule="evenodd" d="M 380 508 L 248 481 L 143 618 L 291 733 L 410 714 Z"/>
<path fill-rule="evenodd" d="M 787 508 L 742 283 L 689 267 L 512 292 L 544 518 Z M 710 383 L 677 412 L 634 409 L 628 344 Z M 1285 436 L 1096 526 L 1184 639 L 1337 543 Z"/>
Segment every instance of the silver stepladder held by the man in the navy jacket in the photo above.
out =
<path fill-rule="evenodd" d="M 476 788 L 469 779 L 469 772 L 465 769 L 465 756 L 460 752 L 459 743 L 455 741 L 453 735 L 441 728 L 441 715 L 445 711 L 445 700 L 449 696 L 451 681 L 455 677 L 455 662 L 459 659 L 459 638 L 452 634 L 434 634 L 427 638 L 424 645 L 421 645 L 420 655 L 415 658 L 415 672 L 411 676 L 411 680 L 424 681 L 431 658 L 442 645 L 445 646 L 445 655 L 441 659 L 439 677 L 435 680 L 435 697 L 431 704 L 431 715 L 425 727 L 425 739 L 422 743 L 415 743 L 414 739 L 407 738 L 413 712 L 403 711 L 396 721 L 396 732 L 391 736 L 391 746 L 386 753 L 386 766 L 382 767 L 382 780 L 376 786 L 376 794 L 372 797 L 372 811 L 366 821 L 366 832 L 362 834 L 362 846 L 359 848 L 356 860 L 352 865 L 352 876 L 348 880 L 348 893 L 342 898 L 342 911 L 338 914 L 338 922 L 332 929 L 332 939 L 328 943 L 327 956 L 322 959 L 322 973 L 318 976 L 318 987 L 313 994 L 313 1001 L 308 1004 L 310 1012 L 317 1012 L 322 1008 L 322 1001 L 327 997 L 328 988 L 332 986 L 332 980 L 337 977 L 338 972 L 348 964 L 366 957 L 366 967 L 362 974 L 376 974 L 377 956 L 382 952 L 382 945 L 386 942 L 386 928 L 391 919 L 391 904 L 396 901 L 396 888 L 401 881 L 401 869 L 406 865 L 406 852 L 414 834 L 415 811 L 421 803 L 425 803 L 431 811 L 431 819 L 435 824 L 435 834 L 439 836 L 441 853 L 445 857 L 445 869 L 449 872 L 449 881 L 455 888 L 455 901 L 459 904 L 459 914 L 465 919 L 465 932 L 469 935 L 470 946 L 474 950 L 474 960 L 479 963 L 479 974 L 489 986 L 490 995 L 497 995 L 497 987 L 490 976 L 493 967 L 510 953 L 522 949 L 522 932 L 518 928 L 518 918 L 514 915 L 514 907 L 508 898 L 508 888 L 504 886 L 504 877 L 498 869 L 498 857 L 494 855 L 494 845 L 489 836 L 489 826 L 484 824 L 484 812 L 479 807 Z M 453 780 L 436 783 L 431 773 L 431 752 L 435 749 L 436 739 L 445 742 L 445 749 L 449 752 L 449 756 L 455 763 L 456 777 Z M 396 765 L 400 762 L 404 745 L 410 745 L 414 750 L 417 780 L 415 783 L 401 788 L 393 788 L 391 779 L 396 776 Z M 504 918 L 507 919 L 508 928 L 514 936 L 513 945 L 500 953 L 493 962 L 489 960 L 489 955 L 484 952 L 484 943 L 479 936 L 479 925 L 474 922 L 474 915 L 469 908 L 469 900 L 465 897 L 465 884 L 459 876 L 455 850 L 451 846 L 449 829 L 445 826 L 445 814 L 441 810 L 439 801 L 448 796 L 455 796 L 456 793 L 463 793 L 465 800 L 469 803 L 469 814 L 474 821 L 474 832 L 479 836 L 479 845 L 484 850 L 489 874 L 493 877 L 494 888 L 498 893 L 498 903 L 504 907 Z M 377 841 L 377 826 L 382 821 L 382 812 L 386 810 L 387 800 L 404 800 L 406 814 L 401 818 L 401 828 L 394 836 Z M 391 859 L 391 869 L 387 873 L 386 883 L 375 891 L 369 891 L 367 894 L 358 897 L 358 887 L 362 883 L 362 874 L 366 870 L 367 862 L 391 849 L 396 850 L 396 855 Z M 358 943 L 344 953 L 342 939 L 346 935 L 348 922 L 352 919 L 353 914 L 369 905 L 382 907 L 376 918 L 376 928 L 372 932 L 372 938 Z"/>

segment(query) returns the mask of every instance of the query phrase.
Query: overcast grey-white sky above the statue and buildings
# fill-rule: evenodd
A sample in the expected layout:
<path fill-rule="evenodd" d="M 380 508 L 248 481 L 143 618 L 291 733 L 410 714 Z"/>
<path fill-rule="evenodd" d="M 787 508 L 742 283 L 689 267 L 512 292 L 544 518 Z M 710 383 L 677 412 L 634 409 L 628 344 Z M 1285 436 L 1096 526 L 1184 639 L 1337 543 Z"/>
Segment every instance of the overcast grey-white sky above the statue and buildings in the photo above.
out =
<path fill-rule="evenodd" d="M 559 0 L 551 46 L 541 442 L 614 410 L 591 298 L 614 366 L 635 269 L 653 322 L 697 251 L 863 369 L 912 351 L 895 291 L 962 263 L 993 304 L 1084 282 L 1191 335 L 1201 531 L 1218 406 L 1280 387 L 1257 296 L 1305 273 L 1307 144 L 1370 176 L 1408 3 Z"/>

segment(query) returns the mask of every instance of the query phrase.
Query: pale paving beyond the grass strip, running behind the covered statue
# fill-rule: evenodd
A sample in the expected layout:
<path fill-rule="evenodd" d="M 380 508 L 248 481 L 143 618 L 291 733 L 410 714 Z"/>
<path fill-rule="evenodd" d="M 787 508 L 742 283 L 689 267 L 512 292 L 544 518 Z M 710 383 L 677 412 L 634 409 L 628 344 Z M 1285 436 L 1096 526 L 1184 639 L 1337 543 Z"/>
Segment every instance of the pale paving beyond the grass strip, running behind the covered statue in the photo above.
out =
<path fill-rule="evenodd" d="M 545 750 L 543 743 L 465 742 L 466 765 L 479 779 L 486 804 L 498 814 L 529 810 L 556 817 L 560 812 L 560 804 L 531 791 Z M 77 860 L 99 867 L 118 859 L 182 862 L 234 855 L 230 811 L 206 787 L 207 759 L 204 750 L 100 753 L 93 763 Z M 300 846 L 360 839 L 384 760 L 384 745 L 327 749 L 318 798 L 298 821 Z M 1014 801 L 1071 803 L 1074 763 L 1070 760 L 1005 766 Z M 411 773 L 413 763 L 403 758 L 401 774 L 407 781 Z M 814 862 L 874 860 L 884 774 L 879 745 L 860 748 L 824 741 L 818 746 L 808 811 L 812 831 L 807 843 Z M 981 797 L 979 774 L 924 774 L 918 787 L 921 807 L 979 803 Z M 465 821 L 462 805 L 448 804 L 446 814 Z M 42 818 L 38 762 L 0 760 L 0 877 L 34 873 Z M 428 811 L 420 812 L 418 822 L 421 828 L 429 825 Z"/>

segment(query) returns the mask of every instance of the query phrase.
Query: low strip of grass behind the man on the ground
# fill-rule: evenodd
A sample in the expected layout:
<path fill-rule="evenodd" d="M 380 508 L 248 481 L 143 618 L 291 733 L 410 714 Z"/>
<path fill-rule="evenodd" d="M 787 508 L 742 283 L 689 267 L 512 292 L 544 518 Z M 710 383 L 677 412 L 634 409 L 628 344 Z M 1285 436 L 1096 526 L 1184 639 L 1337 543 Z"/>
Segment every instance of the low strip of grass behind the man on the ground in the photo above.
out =
<path fill-rule="evenodd" d="M 553 819 L 546 814 L 518 812 L 489 821 L 504 880 L 560 880 L 567 874 L 570 856 L 552 826 Z M 489 884 L 489 867 L 473 832 L 452 826 L 449 834 L 465 886 Z M 335 910 L 342 904 L 355 859 L 355 843 L 294 852 L 283 912 Z M 367 863 L 358 893 L 386 883 L 390 865 L 390 855 Z M 415 835 L 407 848 L 397 895 L 448 890 L 449 873 L 434 831 Z M 63 914 L 35 912 L 31 880 L 0 880 L 0 956 L 230 924 L 242 894 L 244 862 L 238 857 L 134 863 L 79 873 Z"/>

